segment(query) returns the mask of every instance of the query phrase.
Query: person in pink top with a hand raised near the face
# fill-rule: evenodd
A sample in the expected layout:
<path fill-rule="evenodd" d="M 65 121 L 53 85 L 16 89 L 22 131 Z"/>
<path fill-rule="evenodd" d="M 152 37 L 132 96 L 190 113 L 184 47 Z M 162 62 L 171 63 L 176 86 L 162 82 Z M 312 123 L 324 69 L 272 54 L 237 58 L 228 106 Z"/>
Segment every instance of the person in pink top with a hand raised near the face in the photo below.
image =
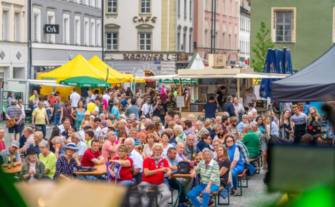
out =
<path fill-rule="evenodd" d="M 119 139 L 117 144 L 115 143 L 115 139 L 117 137 L 115 136 L 115 133 L 113 131 L 106 133 L 106 139 L 105 143 L 103 144 L 103 148 L 101 150 L 103 154 L 103 158 L 105 158 L 106 162 L 109 162 L 113 158 L 117 157 L 117 150 L 119 149 L 119 146 L 121 145 L 122 141 Z"/>

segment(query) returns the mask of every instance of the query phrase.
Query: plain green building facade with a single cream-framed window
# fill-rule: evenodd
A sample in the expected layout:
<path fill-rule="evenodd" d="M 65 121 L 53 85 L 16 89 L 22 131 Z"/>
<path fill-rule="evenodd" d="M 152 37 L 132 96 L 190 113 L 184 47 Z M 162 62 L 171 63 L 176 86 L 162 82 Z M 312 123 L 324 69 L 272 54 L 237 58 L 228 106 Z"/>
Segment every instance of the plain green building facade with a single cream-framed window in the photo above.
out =
<path fill-rule="evenodd" d="M 253 1 L 251 14 L 251 46 L 264 21 L 274 47 L 290 49 L 293 70 L 304 68 L 335 43 L 335 0 Z"/>

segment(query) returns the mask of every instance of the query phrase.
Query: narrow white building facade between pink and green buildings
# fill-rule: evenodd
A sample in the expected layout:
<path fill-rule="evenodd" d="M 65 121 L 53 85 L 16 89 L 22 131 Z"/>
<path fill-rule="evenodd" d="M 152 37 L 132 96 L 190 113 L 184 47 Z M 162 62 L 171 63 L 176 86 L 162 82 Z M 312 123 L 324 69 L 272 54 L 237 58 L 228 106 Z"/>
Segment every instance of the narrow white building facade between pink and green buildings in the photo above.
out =
<path fill-rule="evenodd" d="M 250 63 L 250 0 L 240 0 L 239 13 L 239 66 Z"/>

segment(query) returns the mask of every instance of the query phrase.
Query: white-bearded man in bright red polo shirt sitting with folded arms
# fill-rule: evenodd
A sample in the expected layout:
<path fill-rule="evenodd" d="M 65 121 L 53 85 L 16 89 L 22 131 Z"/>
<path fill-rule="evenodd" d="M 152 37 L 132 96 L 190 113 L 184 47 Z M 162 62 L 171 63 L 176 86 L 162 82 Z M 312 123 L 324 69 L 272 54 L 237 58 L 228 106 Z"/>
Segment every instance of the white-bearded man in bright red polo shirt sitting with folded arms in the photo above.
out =
<path fill-rule="evenodd" d="M 159 206 L 168 206 L 170 198 L 170 190 L 168 185 L 164 184 L 164 174 L 167 177 L 171 176 L 171 170 L 169 167 L 168 160 L 161 158 L 163 153 L 163 147 L 161 144 L 154 144 L 152 148 L 153 154 L 149 158 L 145 158 L 143 161 L 143 178 L 142 183 L 137 185 L 138 190 L 141 194 L 142 206 L 149 206 L 147 191 L 154 189 L 162 195 Z"/>

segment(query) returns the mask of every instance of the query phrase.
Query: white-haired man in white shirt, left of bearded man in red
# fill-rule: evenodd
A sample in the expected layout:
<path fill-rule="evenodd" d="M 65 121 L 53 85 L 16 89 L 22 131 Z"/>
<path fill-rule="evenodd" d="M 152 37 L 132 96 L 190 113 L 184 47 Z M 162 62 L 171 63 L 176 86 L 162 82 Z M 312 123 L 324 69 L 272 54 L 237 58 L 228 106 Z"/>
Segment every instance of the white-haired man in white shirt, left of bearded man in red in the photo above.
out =
<path fill-rule="evenodd" d="M 124 140 L 124 144 L 129 148 L 128 158 L 133 160 L 133 177 L 136 184 L 141 183 L 143 174 L 143 157 L 135 150 L 135 141 L 133 138 L 128 137 Z"/>

